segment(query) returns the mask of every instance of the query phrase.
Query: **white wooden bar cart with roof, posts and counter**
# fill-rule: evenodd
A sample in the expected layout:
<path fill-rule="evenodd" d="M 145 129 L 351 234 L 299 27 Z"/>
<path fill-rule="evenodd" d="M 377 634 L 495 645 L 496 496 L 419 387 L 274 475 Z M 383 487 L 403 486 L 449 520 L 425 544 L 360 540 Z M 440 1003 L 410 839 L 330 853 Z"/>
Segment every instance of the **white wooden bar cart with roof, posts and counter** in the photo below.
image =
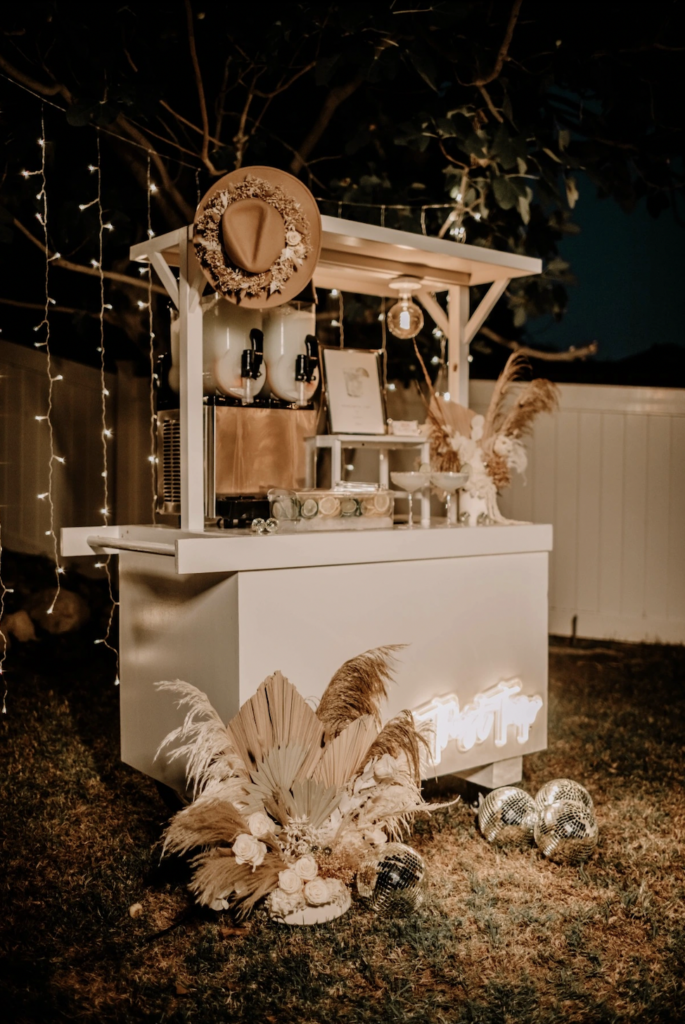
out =
<path fill-rule="evenodd" d="M 512 278 L 539 260 L 441 239 L 323 218 L 322 288 L 392 295 L 401 274 L 448 340 L 454 398 L 468 404 L 468 345 Z M 388 714 L 434 726 L 437 774 L 484 785 L 520 778 L 521 756 L 547 741 L 547 525 L 336 531 L 269 537 L 205 526 L 201 297 L 190 226 L 131 249 L 179 312 L 180 528 L 62 531 L 62 554 L 120 556 L 122 758 L 174 788 L 183 768 L 156 758 L 180 722 L 156 680 L 205 690 L 228 720 L 281 669 L 316 698 L 368 648 L 405 643 Z M 174 272 L 178 267 L 178 275 Z M 469 288 L 489 284 L 469 311 Z M 446 291 L 448 311 L 435 293 Z"/>

